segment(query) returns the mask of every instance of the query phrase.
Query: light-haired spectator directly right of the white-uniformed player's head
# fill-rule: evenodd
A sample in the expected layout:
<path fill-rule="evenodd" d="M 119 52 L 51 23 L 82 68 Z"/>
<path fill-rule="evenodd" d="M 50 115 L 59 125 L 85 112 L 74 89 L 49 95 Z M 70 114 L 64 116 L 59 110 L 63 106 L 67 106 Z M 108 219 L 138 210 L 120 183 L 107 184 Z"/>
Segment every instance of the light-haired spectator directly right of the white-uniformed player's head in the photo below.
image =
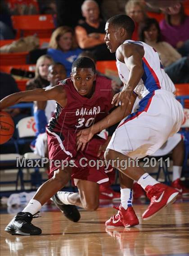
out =
<path fill-rule="evenodd" d="M 125 7 L 126 14 L 130 16 L 135 22 L 135 31 L 132 36 L 132 40 L 139 40 L 139 24 L 144 22 L 147 18 L 144 2 L 140 0 L 129 0 Z"/>

